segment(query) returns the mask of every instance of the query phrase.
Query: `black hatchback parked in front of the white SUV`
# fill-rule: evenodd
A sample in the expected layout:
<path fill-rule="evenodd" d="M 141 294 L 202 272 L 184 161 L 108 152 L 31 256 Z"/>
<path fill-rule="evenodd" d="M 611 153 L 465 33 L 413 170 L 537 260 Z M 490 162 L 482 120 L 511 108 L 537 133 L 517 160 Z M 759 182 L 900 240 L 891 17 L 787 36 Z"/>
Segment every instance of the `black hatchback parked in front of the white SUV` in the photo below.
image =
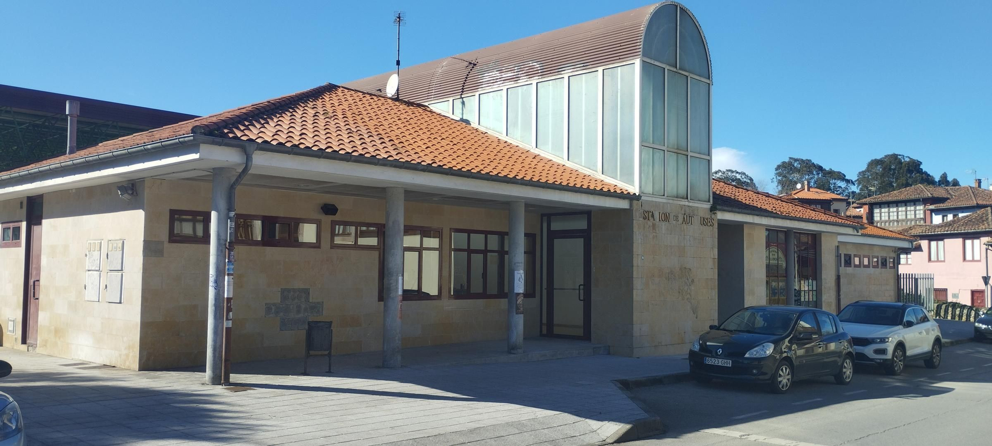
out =
<path fill-rule="evenodd" d="M 752 306 L 734 313 L 692 342 L 689 373 L 713 379 L 766 384 L 785 393 L 793 382 L 832 376 L 839 385 L 854 376 L 851 338 L 833 314 L 803 306 Z"/>

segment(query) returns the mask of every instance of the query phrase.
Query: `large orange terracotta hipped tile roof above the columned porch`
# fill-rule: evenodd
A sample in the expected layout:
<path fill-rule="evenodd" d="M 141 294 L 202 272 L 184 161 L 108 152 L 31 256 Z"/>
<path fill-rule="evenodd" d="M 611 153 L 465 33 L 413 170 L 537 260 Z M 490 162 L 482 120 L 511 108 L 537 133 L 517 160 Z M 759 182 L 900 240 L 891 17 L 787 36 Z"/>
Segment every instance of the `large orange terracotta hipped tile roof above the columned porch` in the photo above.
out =
<path fill-rule="evenodd" d="M 108 141 L 11 172 L 191 134 L 633 195 L 631 190 L 455 121 L 425 105 L 330 83 Z"/>

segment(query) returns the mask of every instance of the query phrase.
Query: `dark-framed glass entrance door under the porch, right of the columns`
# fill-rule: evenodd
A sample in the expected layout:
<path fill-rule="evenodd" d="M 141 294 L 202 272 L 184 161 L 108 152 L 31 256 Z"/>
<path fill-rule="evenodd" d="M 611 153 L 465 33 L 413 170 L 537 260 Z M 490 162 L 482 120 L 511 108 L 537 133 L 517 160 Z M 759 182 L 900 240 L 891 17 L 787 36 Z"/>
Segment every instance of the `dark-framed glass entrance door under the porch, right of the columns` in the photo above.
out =
<path fill-rule="evenodd" d="M 552 215 L 546 224 L 548 263 L 543 334 L 589 339 L 588 214 Z"/>

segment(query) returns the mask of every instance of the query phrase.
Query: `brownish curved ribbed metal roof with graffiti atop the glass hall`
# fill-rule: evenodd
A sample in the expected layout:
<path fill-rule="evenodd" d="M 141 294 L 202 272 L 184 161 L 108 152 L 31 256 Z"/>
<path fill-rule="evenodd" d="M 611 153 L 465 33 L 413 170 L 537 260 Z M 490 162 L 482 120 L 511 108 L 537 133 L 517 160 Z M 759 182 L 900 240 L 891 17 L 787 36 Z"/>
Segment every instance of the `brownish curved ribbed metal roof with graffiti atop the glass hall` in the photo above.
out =
<path fill-rule="evenodd" d="M 674 2 L 656 3 L 506 44 L 401 68 L 400 95 L 405 100 L 427 103 L 527 79 L 639 58 L 648 19 L 668 3 Z M 702 33 L 701 27 L 699 31 Z M 343 85 L 382 94 L 393 72 Z"/>

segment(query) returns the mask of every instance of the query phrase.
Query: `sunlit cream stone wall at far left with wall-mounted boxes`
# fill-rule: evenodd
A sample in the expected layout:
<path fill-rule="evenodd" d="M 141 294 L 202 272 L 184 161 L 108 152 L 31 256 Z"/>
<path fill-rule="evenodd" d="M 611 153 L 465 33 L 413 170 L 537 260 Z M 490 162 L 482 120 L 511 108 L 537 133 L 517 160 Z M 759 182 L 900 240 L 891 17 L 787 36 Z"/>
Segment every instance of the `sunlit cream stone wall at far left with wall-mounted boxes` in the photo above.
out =
<path fill-rule="evenodd" d="M 42 221 L 41 286 L 38 314 L 39 353 L 97 364 L 135 369 L 138 367 L 139 316 L 141 308 L 142 238 L 144 237 L 143 184 L 138 196 L 121 198 L 117 185 L 68 189 L 44 195 Z M 23 220 L 20 202 L 3 204 L 0 217 Z M 108 241 L 123 239 L 123 274 L 120 302 L 109 301 Z M 96 241 L 99 245 L 93 245 Z M 99 246 L 98 253 L 87 252 Z M 4 345 L 24 348 L 21 318 L 24 293 L 26 243 L 20 249 L 0 250 L 3 284 L 0 310 L 3 317 L 16 317 L 15 335 L 5 335 Z M 87 300 L 87 256 L 98 257 L 97 289 Z M 96 284 L 90 281 L 88 286 Z M 6 321 L 6 319 L 4 319 Z M 6 328 L 6 327 L 5 327 Z M 15 338 L 16 342 L 15 342 Z"/>

